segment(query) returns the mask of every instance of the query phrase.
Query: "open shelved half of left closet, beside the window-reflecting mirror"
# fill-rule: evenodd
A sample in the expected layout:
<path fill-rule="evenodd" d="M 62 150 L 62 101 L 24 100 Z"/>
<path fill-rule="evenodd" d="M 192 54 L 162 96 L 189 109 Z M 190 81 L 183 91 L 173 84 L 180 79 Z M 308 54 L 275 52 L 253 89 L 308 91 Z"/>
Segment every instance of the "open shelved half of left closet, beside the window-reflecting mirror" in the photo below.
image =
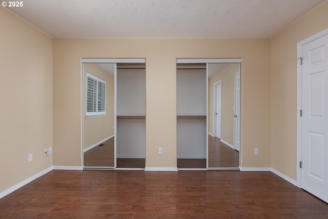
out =
<path fill-rule="evenodd" d="M 146 166 L 146 64 L 117 64 L 117 168 Z"/>

